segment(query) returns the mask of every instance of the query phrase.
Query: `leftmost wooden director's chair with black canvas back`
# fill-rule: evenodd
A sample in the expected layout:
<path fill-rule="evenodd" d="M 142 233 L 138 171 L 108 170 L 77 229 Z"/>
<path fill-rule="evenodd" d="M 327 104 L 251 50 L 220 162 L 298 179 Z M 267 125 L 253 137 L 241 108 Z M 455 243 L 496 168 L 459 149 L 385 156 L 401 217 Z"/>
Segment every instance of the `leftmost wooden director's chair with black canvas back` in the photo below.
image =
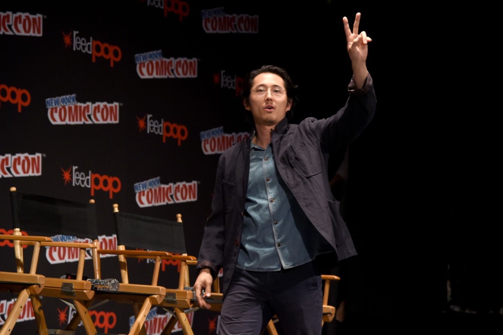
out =
<path fill-rule="evenodd" d="M 11 187 L 11 208 L 13 218 L 13 234 L 2 235 L 0 239 L 11 240 L 14 244 L 16 272 L 0 273 L 0 286 L 12 286 L 11 292 L 18 293 L 15 309 L 8 316 L 9 322 L 2 327 L 0 334 L 12 333 L 12 328 L 19 316 L 19 310 L 31 300 L 39 334 L 71 334 L 78 326 L 68 323 L 65 329 L 48 328 L 44 315 L 43 301 L 57 298 L 74 308 L 82 320 L 88 335 L 96 335 L 96 327 L 89 315 L 87 303 L 94 296 L 92 284 L 85 280 L 84 265 L 86 251 L 96 249 L 92 243 L 97 238 L 96 208 L 94 201 L 80 203 L 50 196 L 22 193 Z M 36 234 L 28 235 L 26 234 Z M 82 239 L 82 242 L 52 241 L 51 236 L 68 235 Z M 89 239 L 90 242 L 83 242 Z M 33 246 L 30 271 L 25 273 L 25 253 L 27 246 Z M 76 248 L 78 262 L 73 275 L 40 273 L 40 249 L 44 248 Z M 6 284 L 8 282 L 8 284 Z M 21 288 L 21 290 L 19 289 Z M 19 308 L 18 308 L 19 307 Z M 17 314 L 17 315 L 16 315 Z"/>

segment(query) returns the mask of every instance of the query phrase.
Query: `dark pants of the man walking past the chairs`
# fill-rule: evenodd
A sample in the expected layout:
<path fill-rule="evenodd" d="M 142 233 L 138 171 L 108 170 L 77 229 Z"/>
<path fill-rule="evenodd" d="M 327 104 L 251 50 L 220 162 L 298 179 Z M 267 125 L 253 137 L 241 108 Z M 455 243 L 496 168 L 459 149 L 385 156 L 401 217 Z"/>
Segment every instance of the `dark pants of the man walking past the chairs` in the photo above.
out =
<path fill-rule="evenodd" d="M 273 272 L 236 268 L 218 334 L 259 335 L 276 314 L 286 335 L 320 335 L 322 304 L 321 277 L 312 262 Z"/>

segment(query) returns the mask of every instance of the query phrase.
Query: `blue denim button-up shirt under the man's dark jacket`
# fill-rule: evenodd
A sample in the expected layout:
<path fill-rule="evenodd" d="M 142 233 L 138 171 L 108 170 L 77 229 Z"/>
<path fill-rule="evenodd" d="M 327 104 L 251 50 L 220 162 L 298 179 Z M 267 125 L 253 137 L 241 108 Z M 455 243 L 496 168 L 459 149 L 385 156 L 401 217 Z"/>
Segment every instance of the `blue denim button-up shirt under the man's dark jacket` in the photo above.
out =
<path fill-rule="evenodd" d="M 304 264 L 314 259 L 319 247 L 311 242 L 319 239 L 319 233 L 276 171 L 272 143 L 264 150 L 250 142 L 248 187 L 236 267 L 279 271 L 281 267 L 289 269 Z M 325 249 L 329 250 L 328 242 L 325 243 Z"/>

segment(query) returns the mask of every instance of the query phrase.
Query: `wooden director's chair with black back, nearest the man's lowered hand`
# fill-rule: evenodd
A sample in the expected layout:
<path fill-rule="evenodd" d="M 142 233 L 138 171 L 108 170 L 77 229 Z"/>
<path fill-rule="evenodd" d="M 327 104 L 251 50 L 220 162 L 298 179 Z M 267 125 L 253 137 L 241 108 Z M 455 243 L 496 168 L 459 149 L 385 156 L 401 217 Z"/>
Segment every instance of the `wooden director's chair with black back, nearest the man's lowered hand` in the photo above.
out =
<path fill-rule="evenodd" d="M 132 303 L 135 321 L 128 335 L 146 334 L 145 319 L 148 311 L 161 307 L 172 314 L 162 334 L 170 334 L 177 322 L 184 335 L 193 335 L 187 313 L 193 307 L 192 291 L 186 289 L 188 281 L 187 262 L 196 261 L 196 257 L 187 255 L 181 216 L 178 222 L 152 218 L 119 211 L 113 205 L 113 215 L 117 234 L 117 250 L 96 249 L 98 255 L 114 254 L 118 256 L 121 280 L 117 291 L 97 291 L 94 299 Z M 127 260 L 151 259 L 153 269 L 149 284 L 132 284 L 128 274 Z M 95 257 L 95 277 L 102 278 L 100 257 Z M 174 287 L 159 285 L 159 269 L 163 260 L 179 261 L 180 275 L 177 275 Z M 150 276 L 150 275 L 149 275 Z"/>

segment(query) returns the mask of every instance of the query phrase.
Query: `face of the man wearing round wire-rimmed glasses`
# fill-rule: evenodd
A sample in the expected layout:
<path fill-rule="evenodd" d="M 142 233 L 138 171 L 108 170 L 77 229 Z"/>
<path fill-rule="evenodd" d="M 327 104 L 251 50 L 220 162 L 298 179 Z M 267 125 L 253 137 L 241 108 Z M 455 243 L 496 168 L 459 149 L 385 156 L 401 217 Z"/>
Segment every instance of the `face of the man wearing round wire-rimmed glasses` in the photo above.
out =
<path fill-rule="evenodd" d="M 274 126 L 278 124 L 290 110 L 292 104 L 288 102 L 285 82 L 283 78 L 272 73 L 261 73 L 254 78 L 252 91 L 248 101 L 244 102 L 244 108 L 251 111 L 255 125 Z M 265 95 L 261 97 L 262 94 Z M 275 92 L 282 92 L 281 97 L 276 97 Z"/>

